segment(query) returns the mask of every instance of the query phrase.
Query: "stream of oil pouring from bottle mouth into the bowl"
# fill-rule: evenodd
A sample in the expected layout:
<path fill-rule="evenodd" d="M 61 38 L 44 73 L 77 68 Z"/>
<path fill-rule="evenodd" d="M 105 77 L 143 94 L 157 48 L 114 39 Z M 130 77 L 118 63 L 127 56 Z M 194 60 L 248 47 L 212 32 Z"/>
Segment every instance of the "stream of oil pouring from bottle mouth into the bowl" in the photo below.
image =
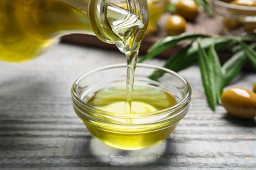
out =
<path fill-rule="evenodd" d="M 126 55 L 127 58 L 125 113 L 131 114 L 135 68 L 137 65 L 140 43 L 143 37 L 141 36 L 141 34 L 144 35 L 144 32 L 146 31 L 146 25 L 143 24 L 138 16 L 131 12 L 127 13 L 127 10 L 123 10 L 121 7 L 117 7 L 116 5 L 110 5 L 108 9 L 110 9 L 110 14 L 108 15 L 108 18 L 112 30 L 121 40 L 116 42 L 116 46 L 121 52 Z M 116 16 L 114 15 L 117 10 L 119 12 L 120 18 L 116 18 Z M 123 16 L 121 14 L 123 14 Z M 112 21 L 111 18 L 114 18 L 114 21 Z"/>

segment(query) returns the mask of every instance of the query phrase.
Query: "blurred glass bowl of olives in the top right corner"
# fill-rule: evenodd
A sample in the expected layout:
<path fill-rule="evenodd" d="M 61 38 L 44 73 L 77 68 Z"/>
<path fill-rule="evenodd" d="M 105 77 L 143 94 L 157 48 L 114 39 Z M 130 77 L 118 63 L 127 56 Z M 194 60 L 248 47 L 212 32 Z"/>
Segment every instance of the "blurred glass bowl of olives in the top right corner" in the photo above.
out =
<path fill-rule="evenodd" d="M 256 33 L 256 7 L 237 5 L 231 0 L 212 0 L 212 9 L 223 22 L 227 35 L 247 35 Z"/>

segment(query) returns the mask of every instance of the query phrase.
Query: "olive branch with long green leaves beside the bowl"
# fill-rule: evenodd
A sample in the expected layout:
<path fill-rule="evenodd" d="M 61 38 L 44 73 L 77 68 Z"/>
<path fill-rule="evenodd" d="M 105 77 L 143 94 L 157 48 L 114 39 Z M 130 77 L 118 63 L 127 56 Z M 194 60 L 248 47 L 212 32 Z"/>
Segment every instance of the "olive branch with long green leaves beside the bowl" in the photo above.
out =
<path fill-rule="evenodd" d="M 179 72 L 198 64 L 205 95 L 212 110 L 215 110 L 217 104 L 221 105 L 224 86 L 242 71 L 246 61 L 250 61 L 256 71 L 256 34 L 236 37 L 183 33 L 164 37 L 155 42 L 139 62 L 154 58 L 168 48 L 180 44 L 186 45 L 175 54 L 170 54 L 163 67 Z M 221 65 L 217 51 L 225 48 L 231 49 L 232 57 Z M 157 80 L 163 74 L 156 70 L 150 78 Z"/>

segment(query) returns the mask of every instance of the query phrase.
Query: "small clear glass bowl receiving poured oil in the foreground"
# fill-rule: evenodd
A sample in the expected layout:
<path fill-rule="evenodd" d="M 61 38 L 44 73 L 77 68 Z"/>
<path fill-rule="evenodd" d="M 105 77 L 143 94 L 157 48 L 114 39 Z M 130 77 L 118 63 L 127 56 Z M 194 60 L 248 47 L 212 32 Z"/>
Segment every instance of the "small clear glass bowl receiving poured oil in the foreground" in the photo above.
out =
<path fill-rule="evenodd" d="M 72 86 L 72 101 L 75 113 L 97 139 L 114 148 L 138 150 L 171 134 L 188 112 L 191 89 L 173 71 L 137 64 L 132 113 L 127 114 L 126 67 L 110 65 L 80 76 Z"/>

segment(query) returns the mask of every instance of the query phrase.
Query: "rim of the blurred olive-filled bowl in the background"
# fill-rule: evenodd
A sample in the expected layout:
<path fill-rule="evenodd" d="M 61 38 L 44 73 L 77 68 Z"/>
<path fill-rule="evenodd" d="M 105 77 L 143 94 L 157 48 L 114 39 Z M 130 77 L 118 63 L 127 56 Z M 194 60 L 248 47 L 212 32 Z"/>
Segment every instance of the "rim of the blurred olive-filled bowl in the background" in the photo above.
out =
<path fill-rule="evenodd" d="M 236 9 L 236 10 L 251 10 L 253 12 L 256 11 L 256 7 L 250 7 L 250 6 L 245 6 L 245 5 L 234 5 L 231 3 L 225 3 L 220 0 L 213 0 L 212 3 L 214 5 L 217 5 L 219 7 L 224 7 L 226 9 Z"/>

